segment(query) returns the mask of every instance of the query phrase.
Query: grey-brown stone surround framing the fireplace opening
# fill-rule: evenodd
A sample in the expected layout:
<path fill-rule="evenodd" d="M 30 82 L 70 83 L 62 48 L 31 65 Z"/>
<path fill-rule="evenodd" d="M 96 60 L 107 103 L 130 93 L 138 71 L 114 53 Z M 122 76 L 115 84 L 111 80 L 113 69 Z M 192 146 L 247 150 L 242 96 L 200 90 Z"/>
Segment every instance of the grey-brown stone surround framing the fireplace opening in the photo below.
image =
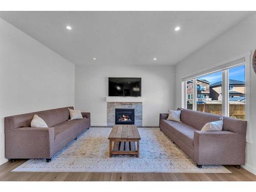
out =
<path fill-rule="evenodd" d="M 115 124 L 115 109 L 134 109 L 135 125 L 142 126 L 142 102 L 107 102 L 106 121 L 108 126 Z"/>

